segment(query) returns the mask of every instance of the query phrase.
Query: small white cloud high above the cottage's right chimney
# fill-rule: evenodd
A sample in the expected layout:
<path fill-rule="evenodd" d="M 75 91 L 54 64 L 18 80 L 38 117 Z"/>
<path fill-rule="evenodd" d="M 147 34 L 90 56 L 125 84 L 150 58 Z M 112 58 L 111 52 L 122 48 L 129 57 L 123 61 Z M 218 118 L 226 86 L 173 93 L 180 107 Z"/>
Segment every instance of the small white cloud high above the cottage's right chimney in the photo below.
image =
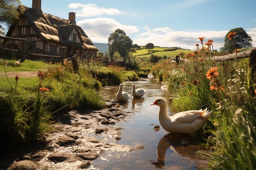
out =
<path fill-rule="evenodd" d="M 69 8 L 78 9 L 76 10 L 76 15 L 81 17 L 91 17 L 91 16 L 99 16 L 99 15 L 117 15 L 121 14 L 121 11 L 115 8 L 104 8 L 98 7 L 96 4 L 81 4 L 81 3 L 72 3 L 68 5 Z"/>

